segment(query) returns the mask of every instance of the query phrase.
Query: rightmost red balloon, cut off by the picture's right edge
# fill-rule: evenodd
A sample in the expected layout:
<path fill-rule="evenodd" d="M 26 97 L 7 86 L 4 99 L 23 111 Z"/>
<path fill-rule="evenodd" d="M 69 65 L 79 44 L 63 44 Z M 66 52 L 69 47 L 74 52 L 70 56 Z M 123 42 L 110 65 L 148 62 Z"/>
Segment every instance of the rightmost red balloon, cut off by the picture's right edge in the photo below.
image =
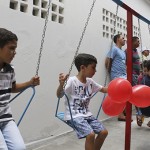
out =
<path fill-rule="evenodd" d="M 150 106 L 150 87 L 146 85 L 136 85 L 132 88 L 132 97 L 129 102 L 137 107 Z"/>

